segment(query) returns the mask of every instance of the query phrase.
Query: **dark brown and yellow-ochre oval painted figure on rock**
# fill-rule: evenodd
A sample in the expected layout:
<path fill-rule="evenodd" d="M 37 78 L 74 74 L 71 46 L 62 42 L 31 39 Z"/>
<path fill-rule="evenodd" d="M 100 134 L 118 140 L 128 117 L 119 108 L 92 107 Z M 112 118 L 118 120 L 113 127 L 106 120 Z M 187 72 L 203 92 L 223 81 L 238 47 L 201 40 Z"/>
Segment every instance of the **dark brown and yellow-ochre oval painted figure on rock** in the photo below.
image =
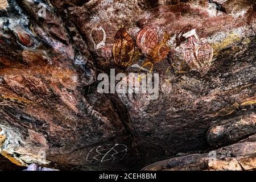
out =
<path fill-rule="evenodd" d="M 118 26 L 113 45 L 114 62 L 121 67 L 132 64 L 135 55 L 133 37 L 126 32 L 125 25 Z"/>

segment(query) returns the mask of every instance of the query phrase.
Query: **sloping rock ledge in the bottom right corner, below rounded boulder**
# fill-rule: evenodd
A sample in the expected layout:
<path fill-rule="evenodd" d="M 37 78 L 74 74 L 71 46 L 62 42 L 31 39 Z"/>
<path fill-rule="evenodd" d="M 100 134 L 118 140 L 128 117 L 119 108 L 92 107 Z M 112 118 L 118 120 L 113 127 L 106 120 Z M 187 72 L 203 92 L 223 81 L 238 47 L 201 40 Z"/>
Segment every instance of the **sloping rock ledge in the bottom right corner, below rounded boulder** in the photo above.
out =
<path fill-rule="evenodd" d="M 255 138 L 210 151 L 164 160 L 144 167 L 145 171 L 249 171 L 256 169 Z M 214 155 L 215 156 L 214 156 Z"/>

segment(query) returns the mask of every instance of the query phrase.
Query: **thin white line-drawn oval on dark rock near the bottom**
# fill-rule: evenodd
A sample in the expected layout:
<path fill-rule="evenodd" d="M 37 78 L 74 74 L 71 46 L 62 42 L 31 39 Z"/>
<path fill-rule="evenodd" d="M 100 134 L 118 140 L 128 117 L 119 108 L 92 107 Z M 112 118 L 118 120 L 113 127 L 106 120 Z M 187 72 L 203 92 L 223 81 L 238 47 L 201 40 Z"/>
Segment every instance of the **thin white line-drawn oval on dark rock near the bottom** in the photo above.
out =
<path fill-rule="evenodd" d="M 92 148 L 86 157 L 89 163 L 111 163 L 122 160 L 127 153 L 125 144 L 102 144 Z"/>

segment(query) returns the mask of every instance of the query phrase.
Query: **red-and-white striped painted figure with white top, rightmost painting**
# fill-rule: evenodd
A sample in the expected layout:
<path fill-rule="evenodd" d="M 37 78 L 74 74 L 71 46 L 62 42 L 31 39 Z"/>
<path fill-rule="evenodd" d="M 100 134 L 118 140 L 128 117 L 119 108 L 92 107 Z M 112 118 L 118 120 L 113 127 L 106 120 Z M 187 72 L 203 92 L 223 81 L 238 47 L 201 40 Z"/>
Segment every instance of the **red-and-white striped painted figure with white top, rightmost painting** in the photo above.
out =
<path fill-rule="evenodd" d="M 183 36 L 188 39 L 188 42 L 181 46 L 185 61 L 189 67 L 200 72 L 202 76 L 205 75 L 213 60 L 212 46 L 200 42 L 196 35 L 196 29 L 183 34 Z"/>

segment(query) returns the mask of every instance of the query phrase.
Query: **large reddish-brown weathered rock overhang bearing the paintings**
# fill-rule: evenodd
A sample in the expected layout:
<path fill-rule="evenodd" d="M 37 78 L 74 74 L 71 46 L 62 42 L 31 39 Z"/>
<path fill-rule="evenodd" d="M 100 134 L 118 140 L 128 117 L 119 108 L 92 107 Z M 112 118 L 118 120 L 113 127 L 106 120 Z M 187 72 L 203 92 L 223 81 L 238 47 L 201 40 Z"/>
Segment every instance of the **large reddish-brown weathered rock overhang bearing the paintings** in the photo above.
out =
<path fill-rule="evenodd" d="M 1 154 L 12 162 L 141 169 L 255 133 L 255 1 L 0 2 Z M 131 36 L 122 59 L 144 69 L 114 63 L 121 24 Z M 136 43 L 146 25 L 158 34 L 148 55 Z M 182 36 L 193 29 L 197 52 Z M 184 48 L 194 62 L 186 62 Z M 98 93 L 97 75 L 110 68 L 126 75 L 159 73 L 158 99 Z M 227 130 L 215 132 L 218 125 Z M 246 151 L 246 158 L 238 159 L 239 153 L 228 159 L 232 169 L 254 165 L 242 164 Z"/>

